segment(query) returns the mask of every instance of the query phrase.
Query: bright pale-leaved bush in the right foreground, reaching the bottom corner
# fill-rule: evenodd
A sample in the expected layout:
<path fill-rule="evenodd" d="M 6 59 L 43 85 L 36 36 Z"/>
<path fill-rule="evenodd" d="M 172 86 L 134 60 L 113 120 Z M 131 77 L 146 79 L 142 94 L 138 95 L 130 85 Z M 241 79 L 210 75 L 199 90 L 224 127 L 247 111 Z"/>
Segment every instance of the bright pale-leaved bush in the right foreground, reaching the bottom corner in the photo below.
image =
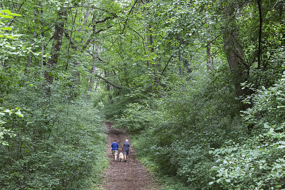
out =
<path fill-rule="evenodd" d="M 219 163 L 211 170 L 218 173 L 213 179 L 224 189 L 284 188 L 284 91 L 285 75 L 274 86 L 258 89 L 251 97 L 254 106 L 243 111 L 245 122 L 255 125 L 254 135 L 242 144 L 230 140 L 210 151 Z"/>

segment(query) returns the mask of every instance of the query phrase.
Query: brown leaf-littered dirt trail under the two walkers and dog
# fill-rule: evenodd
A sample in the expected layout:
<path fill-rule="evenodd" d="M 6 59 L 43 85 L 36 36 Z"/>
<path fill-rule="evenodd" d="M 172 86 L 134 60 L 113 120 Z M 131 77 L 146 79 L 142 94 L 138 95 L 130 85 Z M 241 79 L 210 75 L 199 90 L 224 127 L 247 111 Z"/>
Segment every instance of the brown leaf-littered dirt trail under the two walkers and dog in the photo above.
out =
<path fill-rule="evenodd" d="M 131 139 L 122 131 L 112 128 L 113 122 L 105 122 L 107 130 L 107 156 L 109 157 L 109 168 L 105 171 L 105 181 L 103 187 L 105 190 L 153 190 L 151 178 L 144 167 L 135 157 L 135 150 L 129 153 L 129 162 L 114 162 L 112 161 L 112 154 L 110 146 L 117 140 L 119 144 L 119 153 L 123 152 L 122 147 L 126 139 L 132 145 Z M 118 159 L 118 158 L 117 158 Z"/>

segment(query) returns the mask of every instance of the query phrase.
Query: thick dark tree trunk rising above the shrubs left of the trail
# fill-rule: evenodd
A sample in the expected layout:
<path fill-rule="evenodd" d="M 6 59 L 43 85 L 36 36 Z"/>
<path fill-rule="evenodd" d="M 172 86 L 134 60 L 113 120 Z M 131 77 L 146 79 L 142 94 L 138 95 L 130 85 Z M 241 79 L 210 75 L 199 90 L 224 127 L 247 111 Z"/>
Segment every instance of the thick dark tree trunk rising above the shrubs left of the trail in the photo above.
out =
<path fill-rule="evenodd" d="M 51 51 L 51 58 L 48 59 L 48 67 L 50 70 L 53 70 L 54 65 L 57 63 L 58 54 L 60 51 L 60 47 L 62 44 L 62 36 L 63 36 L 63 30 L 64 30 L 64 16 L 65 11 L 60 11 L 58 13 L 59 18 L 56 21 L 55 29 L 54 29 L 54 42 L 52 44 L 52 51 Z M 46 72 L 44 77 L 46 78 L 46 84 L 52 83 L 52 75 L 49 72 Z M 48 88 L 48 92 L 49 92 Z"/>

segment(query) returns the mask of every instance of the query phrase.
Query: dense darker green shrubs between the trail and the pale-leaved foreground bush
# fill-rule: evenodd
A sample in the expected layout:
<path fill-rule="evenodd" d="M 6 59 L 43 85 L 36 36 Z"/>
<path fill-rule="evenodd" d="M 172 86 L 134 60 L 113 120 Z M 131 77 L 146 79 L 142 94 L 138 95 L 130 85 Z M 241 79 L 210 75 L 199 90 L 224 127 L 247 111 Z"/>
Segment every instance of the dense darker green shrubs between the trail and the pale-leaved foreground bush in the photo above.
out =
<path fill-rule="evenodd" d="M 198 76 L 191 84 L 172 85 L 173 90 L 165 91 L 167 95 L 162 99 L 148 100 L 145 105 L 129 104 L 123 116 L 116 119 L 118 128 L 133 134 L 136 154 L 148 160 L 148 167 L 162 176 L 169 175 L 165 179 L 170 181 L 173 176 L 179 178 L 175 180 L 180 185 L 168 181 L 166 189 L 210 188 L 215 172 L 209 172 L 209 168 L 216 163 L 209 150 L 219 148 L 227 138 L 239 141 L 246 133 L 243 126 L 237 127 L 238 110 L 224 111 L 237 104 L 229 99 L 232 89 L 227 83 L 221 87 L 215 84 L 227 74 L 221 68 L 216 77 L 210 85 Z M 220 98 L 211 99 L 215 96 Z"/>

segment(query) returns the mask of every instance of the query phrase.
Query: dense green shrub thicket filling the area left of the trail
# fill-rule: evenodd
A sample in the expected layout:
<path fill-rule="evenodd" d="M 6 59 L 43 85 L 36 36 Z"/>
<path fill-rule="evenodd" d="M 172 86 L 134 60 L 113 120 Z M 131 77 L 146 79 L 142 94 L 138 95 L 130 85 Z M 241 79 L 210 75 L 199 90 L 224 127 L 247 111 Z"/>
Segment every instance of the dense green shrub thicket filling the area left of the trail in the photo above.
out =
<path fill-rule="evenodd" d="M 25 78 L 21 72 L 6 74 L 10 75 L 11 81 Z M 40 81 L 32 83 L 9 91 L 2 98 L 2 106 L 25 107 L 21 112 L 16 108 L 0 113 L 3 120 L 9 120 L 1 121 L 1 125 L 17 134 L 11 134 L 14 137 L 10 138 L 11 131 L 8 130 L 3 135 L 3 141 L 9 146 L 8 150 L 5 146 L 0 148 L 2 188 L 90 187 L 107 166 L 103 119 L 93 104 L 86 101 L 86 96 L 71 98 L 65 95 L 70 92 L 63 88 L 68 81 L 52 85 L 50 97 L 41 93 Z M 20 117 L 13 117 L 12 113 Z"/>

